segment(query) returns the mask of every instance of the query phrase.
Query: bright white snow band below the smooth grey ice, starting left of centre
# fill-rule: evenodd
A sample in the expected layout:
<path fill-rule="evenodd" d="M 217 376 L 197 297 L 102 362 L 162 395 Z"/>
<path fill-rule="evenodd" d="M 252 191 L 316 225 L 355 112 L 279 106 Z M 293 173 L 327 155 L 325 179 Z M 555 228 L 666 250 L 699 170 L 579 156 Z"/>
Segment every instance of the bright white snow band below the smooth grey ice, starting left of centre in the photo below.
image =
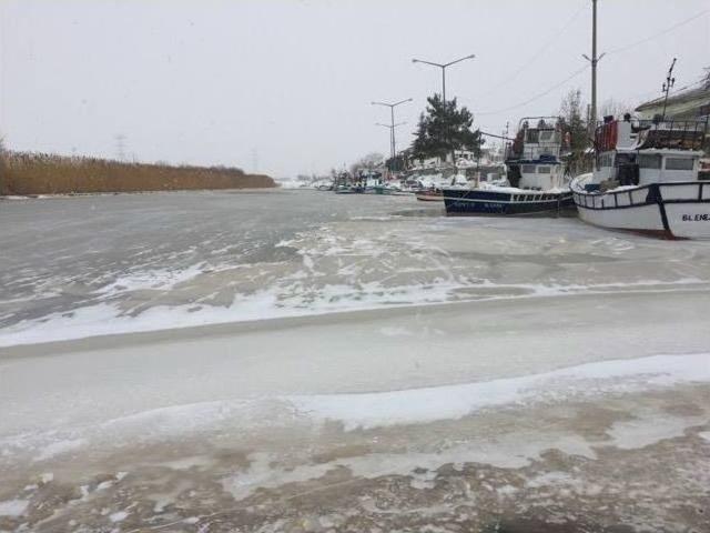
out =
<path fill-rule="evenodd" d="M 604 361 L 480 383 L 368 394 L 294 396 L 291 401 L 310 416 L 342 421 L 346 430 L 354 430 L 459 419 L 481 409 L 530 402 L 542 395 L 561 399 L 592 390 L 598 394 L 694 381 L 710 381 L 710 354 Z"/>

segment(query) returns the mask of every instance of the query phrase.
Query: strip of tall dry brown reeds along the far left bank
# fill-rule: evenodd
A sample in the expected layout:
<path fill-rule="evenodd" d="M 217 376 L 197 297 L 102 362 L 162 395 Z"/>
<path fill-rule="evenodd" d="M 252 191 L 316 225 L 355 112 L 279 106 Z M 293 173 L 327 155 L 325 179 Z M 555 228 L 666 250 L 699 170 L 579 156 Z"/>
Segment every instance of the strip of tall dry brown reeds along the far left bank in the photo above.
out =
<path fill-rule="evenodd" d="M 124 163 L 47 153 L 0 153 L 0 194 L 175 191 L 276 187 L 262 174 L 223 167 Z"/>

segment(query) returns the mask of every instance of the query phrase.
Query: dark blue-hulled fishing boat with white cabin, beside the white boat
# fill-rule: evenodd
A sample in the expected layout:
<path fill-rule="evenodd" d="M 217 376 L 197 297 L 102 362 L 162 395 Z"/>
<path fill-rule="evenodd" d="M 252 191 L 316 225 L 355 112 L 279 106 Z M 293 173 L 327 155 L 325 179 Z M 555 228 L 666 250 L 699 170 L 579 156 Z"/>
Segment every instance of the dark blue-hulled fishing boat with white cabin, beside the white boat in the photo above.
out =
<path fill-rule="evenodd" d="M 445 188 L 446 214 L 558 214 L 574 208 L 560 160 L 561 148 L 557 117 L 523 119 L 506 159 L 507 185 L 477 182 L 473 187 Z"/>

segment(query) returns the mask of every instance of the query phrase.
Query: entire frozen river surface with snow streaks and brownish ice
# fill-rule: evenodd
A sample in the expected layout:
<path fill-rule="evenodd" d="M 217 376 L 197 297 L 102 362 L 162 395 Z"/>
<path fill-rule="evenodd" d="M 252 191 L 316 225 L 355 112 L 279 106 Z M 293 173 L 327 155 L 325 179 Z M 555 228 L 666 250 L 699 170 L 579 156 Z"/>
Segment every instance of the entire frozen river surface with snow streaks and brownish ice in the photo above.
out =
<path fill-rule="evenodd" d="M 707 243 L 308 191 L 0 227 L 0 531 L 710 530 Z"/>

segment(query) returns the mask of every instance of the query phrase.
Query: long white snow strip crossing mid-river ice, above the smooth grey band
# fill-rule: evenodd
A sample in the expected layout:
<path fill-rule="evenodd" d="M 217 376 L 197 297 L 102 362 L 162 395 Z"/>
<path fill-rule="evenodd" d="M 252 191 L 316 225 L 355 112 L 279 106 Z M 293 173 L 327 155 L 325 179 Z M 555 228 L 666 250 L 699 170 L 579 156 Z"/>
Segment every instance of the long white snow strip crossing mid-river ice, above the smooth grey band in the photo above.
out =
<path fill-rule="evenodd" d="M 138 315 L 126 314 L 118 304 L 108 302 L 79 308 L 70 313 L 55 313 L 0 330 L 0 346 L 205 324 L 365 311 L 384 306 L 402 308 L 446 302 L 605 294 L 621 291 L 632 292 L 636 288 L 643 292 L 663 292 L 683 288 L 690 290 L 693 285 L 699 290 L 706 289 L 706 283 L 696 279 L 677 280 L 672 283 L 649 280 L 638 283 L 600 283 L 597 285 L 495 284 L 488 281 L 460 284 L 439 280 L 424 285 L 386 286 L 379 282 L 361 283 L 356 286 L 324 284 L 315 290 L 306 290 L 294 283 L 287 289 L 272 286 L 251 294 L 237 294 L 229 306 L 209 304 L 197 306 L 195 304 L 155 305 Z M 485 290 L 493 290 L 493 292 L 486 293 Z"/>

